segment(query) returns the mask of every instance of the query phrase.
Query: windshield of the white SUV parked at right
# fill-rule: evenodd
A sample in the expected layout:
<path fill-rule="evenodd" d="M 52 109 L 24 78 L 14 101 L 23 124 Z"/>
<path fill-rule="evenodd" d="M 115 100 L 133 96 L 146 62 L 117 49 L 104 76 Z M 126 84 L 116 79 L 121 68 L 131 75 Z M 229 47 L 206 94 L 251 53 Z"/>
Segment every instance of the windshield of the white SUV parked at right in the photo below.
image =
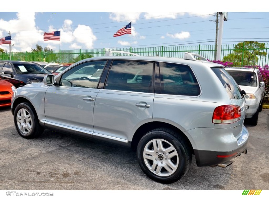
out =
<path fill-rule="evenodd" d="M 257 76 L 250 71 L 226 70 L 240 86 L 257 86 Z"/>

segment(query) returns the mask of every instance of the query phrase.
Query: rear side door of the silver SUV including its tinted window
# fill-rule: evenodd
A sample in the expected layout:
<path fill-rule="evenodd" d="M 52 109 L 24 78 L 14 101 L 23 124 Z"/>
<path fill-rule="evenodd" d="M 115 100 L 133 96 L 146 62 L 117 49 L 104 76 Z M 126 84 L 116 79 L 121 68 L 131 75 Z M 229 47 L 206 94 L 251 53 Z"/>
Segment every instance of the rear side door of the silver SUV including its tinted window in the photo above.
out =
<path fill-rule="evenodd" d="M 137 128 L 152 121 L 152 75 L 153 62 L 112 61 L 94 105 L 93 138 L 132 141 Z"/>

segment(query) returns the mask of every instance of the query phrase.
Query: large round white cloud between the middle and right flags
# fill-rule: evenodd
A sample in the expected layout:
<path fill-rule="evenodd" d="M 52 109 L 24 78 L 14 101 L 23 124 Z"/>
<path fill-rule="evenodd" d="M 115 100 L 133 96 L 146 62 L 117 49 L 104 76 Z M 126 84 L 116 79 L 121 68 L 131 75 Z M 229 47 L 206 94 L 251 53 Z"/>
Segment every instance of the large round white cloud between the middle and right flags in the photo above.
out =
<path fill-rule="evenodd" d="M 93 42 L 97 37 L 93 34 L 93 30 L 86 25 L 78 25 L 73 33 L 75 40 L 82 43 L 86 48 L 93 48 Z"/>

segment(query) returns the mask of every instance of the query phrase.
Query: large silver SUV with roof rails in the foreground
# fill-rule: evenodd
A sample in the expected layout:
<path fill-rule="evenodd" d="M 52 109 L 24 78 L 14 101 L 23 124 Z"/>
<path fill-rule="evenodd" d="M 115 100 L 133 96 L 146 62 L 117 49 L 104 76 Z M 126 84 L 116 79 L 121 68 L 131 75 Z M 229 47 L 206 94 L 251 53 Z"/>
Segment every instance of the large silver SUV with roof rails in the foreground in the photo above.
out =
<path fill-rule="evenodd" d="M 242 91 L 224 66 L 197 54 L 88 58 L 16 89 L 11 110 L 24 138 L 50 128 L 131 147 L 161 183 L 183 177 L 192 155 L 198 166 L 226 167 L 247 151 Z"/>

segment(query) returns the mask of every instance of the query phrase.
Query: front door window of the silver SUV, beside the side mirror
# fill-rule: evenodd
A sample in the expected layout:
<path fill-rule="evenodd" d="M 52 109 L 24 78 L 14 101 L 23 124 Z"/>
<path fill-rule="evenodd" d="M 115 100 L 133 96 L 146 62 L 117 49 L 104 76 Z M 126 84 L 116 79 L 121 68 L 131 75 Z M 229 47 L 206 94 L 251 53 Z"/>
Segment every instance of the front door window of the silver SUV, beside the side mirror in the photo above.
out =
<path fill-rule="evenodd" d="M 107 60 L 79 64 L 62 75 L 60 86 L 97 88 Z"/>

